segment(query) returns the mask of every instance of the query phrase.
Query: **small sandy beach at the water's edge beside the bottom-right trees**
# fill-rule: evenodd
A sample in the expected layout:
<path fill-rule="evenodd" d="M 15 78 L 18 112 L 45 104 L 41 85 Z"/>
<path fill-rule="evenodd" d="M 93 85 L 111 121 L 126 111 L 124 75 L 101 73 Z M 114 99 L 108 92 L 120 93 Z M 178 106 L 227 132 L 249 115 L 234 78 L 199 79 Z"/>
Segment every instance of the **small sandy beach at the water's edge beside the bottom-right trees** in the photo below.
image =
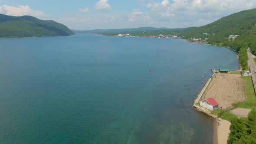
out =
<path fill-rule="evenodd" d="M 213 126 L 213 144 L 226 144 L 230 132 L 230 124 L 227 120 L 215 120 Z"/>

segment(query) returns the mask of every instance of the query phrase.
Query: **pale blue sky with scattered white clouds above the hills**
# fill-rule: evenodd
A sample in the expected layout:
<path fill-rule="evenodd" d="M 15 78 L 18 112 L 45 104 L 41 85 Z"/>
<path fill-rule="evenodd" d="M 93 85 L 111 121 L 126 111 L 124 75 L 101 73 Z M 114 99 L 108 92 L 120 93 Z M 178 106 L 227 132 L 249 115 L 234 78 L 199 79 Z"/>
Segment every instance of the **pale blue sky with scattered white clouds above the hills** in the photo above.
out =
<path fill-rule="evenodd" d="M 70 29 L 203 26 L 255 0 L 0 0 L 0 13 L 54 20 Z"/>

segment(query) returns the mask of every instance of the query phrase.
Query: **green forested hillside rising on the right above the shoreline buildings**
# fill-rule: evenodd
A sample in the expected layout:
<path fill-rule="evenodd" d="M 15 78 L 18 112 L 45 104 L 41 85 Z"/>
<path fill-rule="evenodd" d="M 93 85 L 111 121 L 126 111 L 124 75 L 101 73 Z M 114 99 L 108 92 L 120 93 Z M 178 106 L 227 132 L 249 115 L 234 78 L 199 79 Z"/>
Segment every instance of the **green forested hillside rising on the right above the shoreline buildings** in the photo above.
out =
<path fill-rule="evenodd" d="M 256 54 L 256 9 L 233 13 L 205 26 L 188 28 L 181 35 L 187 39 L 207 38 L 209 44 L 229 46 L 237 51 L 246 44 Z M 239 36 L 229 39 L 230 35 Z"/>

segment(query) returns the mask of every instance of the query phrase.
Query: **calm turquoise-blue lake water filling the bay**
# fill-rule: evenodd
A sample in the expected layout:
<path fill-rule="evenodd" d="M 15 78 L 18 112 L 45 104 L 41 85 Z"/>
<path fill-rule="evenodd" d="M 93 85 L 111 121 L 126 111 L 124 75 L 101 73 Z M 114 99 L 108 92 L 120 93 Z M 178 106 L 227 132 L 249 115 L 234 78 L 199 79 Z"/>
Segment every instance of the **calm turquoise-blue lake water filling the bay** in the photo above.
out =
<path fill-rule="evenodd" d="M 0 43 L 6 144 L 209 144 L 212 119 L 194 111 L 193 99 L 210 68 L 239 69 L 236 52 L 184 39 L 80 34 Z"/>

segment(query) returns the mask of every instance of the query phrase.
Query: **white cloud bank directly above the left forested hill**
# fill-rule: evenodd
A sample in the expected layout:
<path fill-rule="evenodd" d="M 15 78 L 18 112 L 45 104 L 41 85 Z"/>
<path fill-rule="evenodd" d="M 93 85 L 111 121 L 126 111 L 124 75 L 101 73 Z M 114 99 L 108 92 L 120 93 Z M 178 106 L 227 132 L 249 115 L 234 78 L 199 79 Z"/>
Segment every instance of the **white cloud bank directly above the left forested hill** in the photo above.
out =
<path fill-rule="evenodd" d="M 6 14 L 9 16 L 45 16 L 47 14 L 43 13 L 43 11 L 32 10 L 30 6 L 18 5 L 17 7 L 3 5 L 0 6 L 0 13 Z"/>

